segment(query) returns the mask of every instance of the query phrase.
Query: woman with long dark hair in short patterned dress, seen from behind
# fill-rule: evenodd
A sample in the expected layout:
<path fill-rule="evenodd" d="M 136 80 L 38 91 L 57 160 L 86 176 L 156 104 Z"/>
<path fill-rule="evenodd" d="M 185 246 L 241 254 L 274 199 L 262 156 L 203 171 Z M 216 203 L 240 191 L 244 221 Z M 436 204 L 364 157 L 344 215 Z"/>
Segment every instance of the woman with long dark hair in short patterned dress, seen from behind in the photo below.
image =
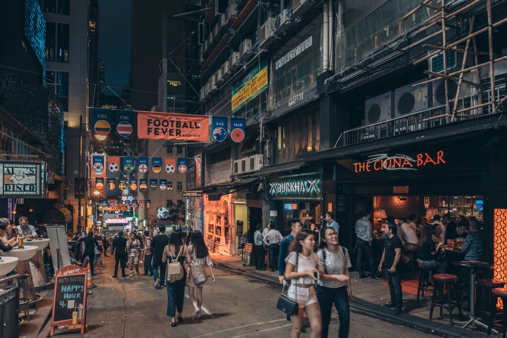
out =
<path fill-rule="evenodd" d="M 201 319 L 202 307 L 202 288 L 206 283 L 206 266 L 209 267 L 211 278 L 215 281 L 213 274 L 213 263 L 209 258 L 208 248 L 204 243 L 200 231 L 194 231 L 191 234 L 190 245 L 187 250 L 187 261 L 190 262 L 190 275 L 189 275 L 189 298 L 194 306 L 194 315 L 192 319 Z M 195 291 L 197 290 L 197 302 Z"/>

